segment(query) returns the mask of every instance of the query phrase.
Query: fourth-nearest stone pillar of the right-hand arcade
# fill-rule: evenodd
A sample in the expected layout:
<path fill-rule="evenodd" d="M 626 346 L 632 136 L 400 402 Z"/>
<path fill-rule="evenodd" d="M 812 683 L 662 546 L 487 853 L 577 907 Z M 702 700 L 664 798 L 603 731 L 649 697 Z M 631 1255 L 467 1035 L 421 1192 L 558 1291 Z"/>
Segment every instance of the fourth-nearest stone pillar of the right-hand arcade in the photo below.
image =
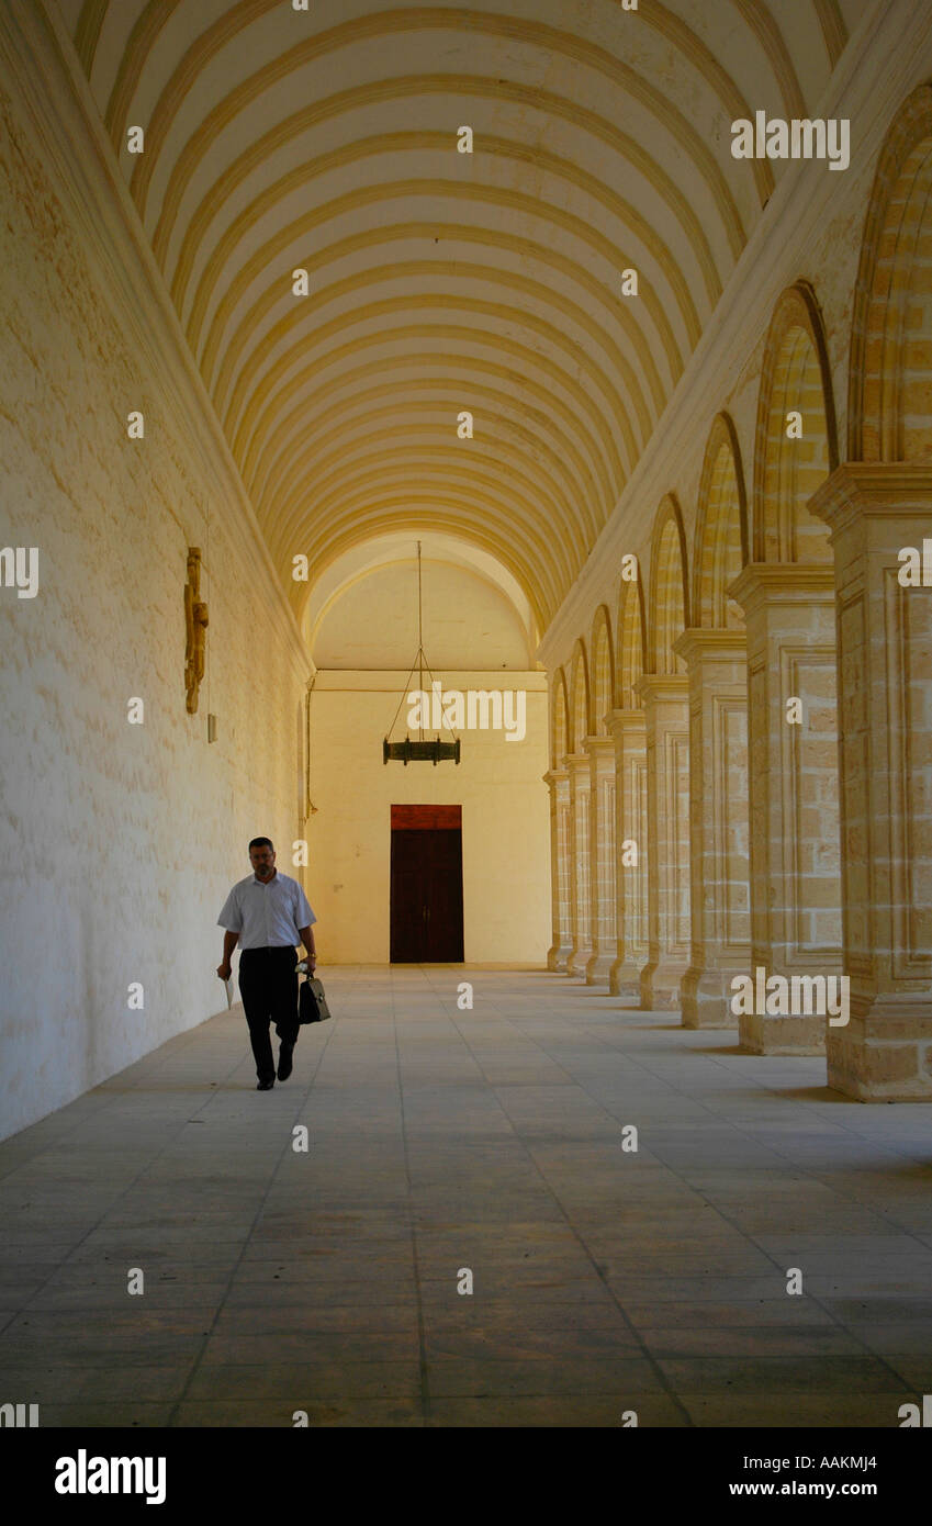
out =
<path fill-rule="evenodd" d="M 645 673 L 635 693 L 644 702 L 647 739 L 647 964 L 641 1006 L 680 1006 L 689 961 L 689 702 L 688 679 Z"/>

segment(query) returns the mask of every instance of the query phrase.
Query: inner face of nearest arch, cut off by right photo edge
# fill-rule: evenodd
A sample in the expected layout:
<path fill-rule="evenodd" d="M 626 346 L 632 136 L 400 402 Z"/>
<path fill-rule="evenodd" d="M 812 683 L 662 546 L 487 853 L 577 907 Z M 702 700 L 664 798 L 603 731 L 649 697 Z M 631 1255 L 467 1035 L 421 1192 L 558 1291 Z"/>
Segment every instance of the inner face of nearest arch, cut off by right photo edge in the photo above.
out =
<path fill-rule="evenodd" d="M 932 455 L 932 85 L 897 114 L 877 162 L 854 288 L 848 458 Z"/>

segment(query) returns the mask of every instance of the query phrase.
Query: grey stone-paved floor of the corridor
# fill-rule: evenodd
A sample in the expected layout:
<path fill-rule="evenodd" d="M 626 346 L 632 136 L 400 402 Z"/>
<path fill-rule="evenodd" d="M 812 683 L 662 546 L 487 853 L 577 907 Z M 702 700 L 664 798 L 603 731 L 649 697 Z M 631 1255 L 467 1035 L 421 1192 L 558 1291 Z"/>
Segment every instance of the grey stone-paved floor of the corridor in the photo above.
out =
<path fill-rule="evenodd" d="M 932 1392 L 932 1106 L 558 975 L 322 974 L 336 1018 L 273 1091 L 235 1007 L 0 1144 L 0 1401 L 895 1427 Z"/>

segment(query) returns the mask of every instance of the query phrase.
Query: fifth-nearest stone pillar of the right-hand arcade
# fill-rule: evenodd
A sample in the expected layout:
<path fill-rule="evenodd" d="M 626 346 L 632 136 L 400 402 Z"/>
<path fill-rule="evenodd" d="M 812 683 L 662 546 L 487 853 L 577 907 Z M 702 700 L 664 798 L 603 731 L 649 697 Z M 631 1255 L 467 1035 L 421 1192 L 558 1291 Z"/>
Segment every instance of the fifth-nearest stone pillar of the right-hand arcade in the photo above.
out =
<path fill-rule="evenodd" d="M 609 990 L 641 1006 L 647 964 L 647 748 L 642 710 L 613 710 L 615 740 L 615 963 Z"/>

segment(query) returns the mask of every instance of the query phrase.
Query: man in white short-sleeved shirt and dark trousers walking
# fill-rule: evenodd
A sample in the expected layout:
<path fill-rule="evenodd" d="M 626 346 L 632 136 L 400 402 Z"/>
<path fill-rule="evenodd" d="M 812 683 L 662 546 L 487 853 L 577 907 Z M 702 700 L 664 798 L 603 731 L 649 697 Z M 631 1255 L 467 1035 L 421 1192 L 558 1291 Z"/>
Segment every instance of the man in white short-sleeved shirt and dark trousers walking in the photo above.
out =
<path fill-rule="evenodd" d="M 270 838 L 253 838 L 249 844 L 253 873 L 241 879 L 229 893 L 217 925 L 224 928 L 221 980 L 230 978 L 230 958 L 236 943 L 239 954 L 239 995 L 249 1022 L 249 1039 L 256 1061 L 259 1085 L 256 1091 L 275 1087 L 275 1058 L 268 1022 L 281 1042 L 278 1079 L 291 1074 L 291 1056 L 297 1042 L 297 954 L 296 943 L 308 951 L 311 975 L 317 966 L 311 923 L 317 920 L 296 879 L 279 874 Z"/>

